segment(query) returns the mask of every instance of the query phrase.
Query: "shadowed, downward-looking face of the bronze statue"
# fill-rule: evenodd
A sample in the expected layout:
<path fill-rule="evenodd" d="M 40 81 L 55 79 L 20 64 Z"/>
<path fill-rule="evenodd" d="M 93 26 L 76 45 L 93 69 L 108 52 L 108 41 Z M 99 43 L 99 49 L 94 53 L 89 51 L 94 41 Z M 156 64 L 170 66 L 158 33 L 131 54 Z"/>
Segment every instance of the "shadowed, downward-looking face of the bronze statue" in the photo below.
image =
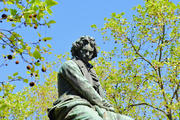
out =
<path fill-rule="evenodd" d="M 84 46 L 79 52 L 79 57 L 84 61 L 88 62 L 92 59 L 94 54 L 94 47 L 89 42 L 85 42 Z"/>

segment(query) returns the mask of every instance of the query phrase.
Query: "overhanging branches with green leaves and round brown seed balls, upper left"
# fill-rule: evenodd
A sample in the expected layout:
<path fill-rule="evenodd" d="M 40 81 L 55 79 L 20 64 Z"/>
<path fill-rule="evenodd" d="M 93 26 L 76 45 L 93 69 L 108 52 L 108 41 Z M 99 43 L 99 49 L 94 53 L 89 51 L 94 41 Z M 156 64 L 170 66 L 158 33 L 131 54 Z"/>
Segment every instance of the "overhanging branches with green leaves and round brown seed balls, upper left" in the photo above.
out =
<path fill-rule="evenodd" d="M 54 20 L 49 20 L 49 15 L 52 14 L 51 7 L 57 2 L 54 0 L 3 0 L 0 4 L 0 47 L 3 51 L 0 67 L 7 66 L 13 60 L 15 64 L 20 64 L 22 60 L 27 64 L 24 67 L 27 73 L 39 77 L 38 67 L 41 66 L 42 71 L 46 71 L 41 62 L 45 61 L 44 54 L 50 54 L 51 49 L 51 45 L 45 42 L 52 38 L 43 37 L 38 28 L 40 26 L 50 27 L 55 23 Z M 37 31 L 37 39 L 25 39 L 21 29 Z M 27 82 L 26 78 L 18 75 L 16 72 L 8 78 L 9 80 L 0 80 L 0 82 L 15 80 Z"/>

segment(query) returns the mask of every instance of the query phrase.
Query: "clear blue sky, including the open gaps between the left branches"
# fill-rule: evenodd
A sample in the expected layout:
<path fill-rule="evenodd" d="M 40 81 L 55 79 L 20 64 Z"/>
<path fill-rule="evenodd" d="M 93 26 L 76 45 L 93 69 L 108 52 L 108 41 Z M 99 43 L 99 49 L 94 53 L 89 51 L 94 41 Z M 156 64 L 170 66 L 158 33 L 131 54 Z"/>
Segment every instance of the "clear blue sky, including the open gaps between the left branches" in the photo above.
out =
<path fill-rule="evenodd" d="M 131 19 L 134 11 L 132 8 L 138 4 L 143 5 L 143 0 L 57 0 L 58 5 L 52 7 L 52 16 L 50 19 L 56 21 L 50 28 L 39 27 L 37 31 L 41 31 L 42 36 L 50 36 L 53 39 L 49 41 L 53 51 L 51 56 L 47 56 L 48 61 L 54 61 L 55 54 L 64 54 L 70 52 L 71 45 L 80 36 L 90 35 L 96 39 L 97 45 L 101 50 L 109 51 L 112 49 L 112 41 L 104 44 L 100 32 L 95 32 L 92 24 L 96 24 L 99 28 L 105 23 L 104 18 L 110 18 L 111 14 L 125 13 L 127 19 Z M 178 0 L 173 0 L 178 1 Z M 0 4 L 0 8 L 5 7 Z M 3 27 L 0 24 L 0 28 Z M 23 34 L 24 39 L 35 40 L 39 39 L 35 34 L 37 31 L 32 31 L 29 28 L 18 29 Z M 0 53 L 5 53 L 0 49 Z M 0 58 L 2 62 L 2 57 Z M 20 61 L 21 62 L 21 61 Z M 8 66 L 0 68 L 2 81 L 7 79 L 8 75 L 18 71 L 22 73 L 25 70 L 24 65 L 15 65 L 13 61 L 8 63 Z M 21 83 L 19 83 L 21 84 Z"/>

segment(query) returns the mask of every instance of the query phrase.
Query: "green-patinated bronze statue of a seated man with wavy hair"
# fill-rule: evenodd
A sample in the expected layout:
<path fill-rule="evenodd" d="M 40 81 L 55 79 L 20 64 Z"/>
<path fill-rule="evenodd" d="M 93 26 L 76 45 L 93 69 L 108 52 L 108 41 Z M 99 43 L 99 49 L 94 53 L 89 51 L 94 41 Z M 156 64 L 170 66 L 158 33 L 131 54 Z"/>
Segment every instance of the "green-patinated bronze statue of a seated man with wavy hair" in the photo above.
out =
<path fill-rule="evenodd" d="M 82 36 L 71 48 L 72 59 L 58 73 L 59 98 L 48 110 L 50 120 L 133 120 L 114 112 L 90 60 L 97 57 L 95 39 Z"/>

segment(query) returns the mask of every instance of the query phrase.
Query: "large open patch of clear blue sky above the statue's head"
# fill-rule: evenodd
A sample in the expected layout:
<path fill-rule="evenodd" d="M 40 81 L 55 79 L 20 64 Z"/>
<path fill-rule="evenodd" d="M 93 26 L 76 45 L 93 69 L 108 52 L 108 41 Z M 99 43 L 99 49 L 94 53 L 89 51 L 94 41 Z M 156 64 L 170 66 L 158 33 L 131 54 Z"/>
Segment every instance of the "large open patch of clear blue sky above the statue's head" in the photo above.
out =
<path fill-rule="evenodd" d="M 125 12 L 128 18 L 132 15 L 132 7 L 142 4 L 142 0 L 63 0 L 53 8 L 52 18 L 56 24 L 50 29 L 53 37 L 55 53 L 69 51 L 72 42 L 82 35 L 90 35 L 96 39 L 97 45 L 103 46 L 102 36 L 90 27 L 96 24 L 102 27 L 105 17 L 113 12 Z M 61 47 L 63 45 L 63 47 Z"/>

